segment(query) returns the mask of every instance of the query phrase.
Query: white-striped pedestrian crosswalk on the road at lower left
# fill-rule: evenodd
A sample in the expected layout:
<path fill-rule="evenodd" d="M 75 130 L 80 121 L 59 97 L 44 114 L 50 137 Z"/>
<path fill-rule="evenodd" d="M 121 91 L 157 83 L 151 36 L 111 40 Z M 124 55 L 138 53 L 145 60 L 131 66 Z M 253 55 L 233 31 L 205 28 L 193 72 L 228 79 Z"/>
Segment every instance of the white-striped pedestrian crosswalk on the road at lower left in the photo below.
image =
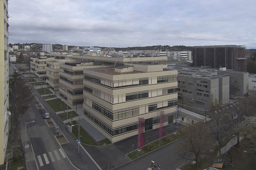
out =
<path fill-rule="evenodd" d="M 54 150 L 53 153 L 52 152 L 48 152 L 48 154 L 43 154 L 43 155 L 38 155 L 37 159 L 39 162 L 40 167 L 42 167 L 43 165 L 47 165 L 51 162 L 55 162 L 55 159 L 57 160 L 61 160 L 61 157 L 64 159 L 66 158 L 66 155 L 64 154 L 62 148 L 59 148 L 58 150 Z M 48 159 L 48 157 L 50 159 Z"/>

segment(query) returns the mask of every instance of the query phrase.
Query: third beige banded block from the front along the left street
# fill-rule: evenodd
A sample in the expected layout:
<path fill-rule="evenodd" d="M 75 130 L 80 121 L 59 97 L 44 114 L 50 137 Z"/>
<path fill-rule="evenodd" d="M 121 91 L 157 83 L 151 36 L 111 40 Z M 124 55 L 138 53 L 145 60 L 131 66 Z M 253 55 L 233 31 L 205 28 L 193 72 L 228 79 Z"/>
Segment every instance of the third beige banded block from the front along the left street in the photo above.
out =
<path fill-rule="evenodd" d="M 46 61 L 46 82 L 49 84 L 51 92 L 54 94 L 59 93 L 59 64 L 75 61 L 74 59 Z"/>

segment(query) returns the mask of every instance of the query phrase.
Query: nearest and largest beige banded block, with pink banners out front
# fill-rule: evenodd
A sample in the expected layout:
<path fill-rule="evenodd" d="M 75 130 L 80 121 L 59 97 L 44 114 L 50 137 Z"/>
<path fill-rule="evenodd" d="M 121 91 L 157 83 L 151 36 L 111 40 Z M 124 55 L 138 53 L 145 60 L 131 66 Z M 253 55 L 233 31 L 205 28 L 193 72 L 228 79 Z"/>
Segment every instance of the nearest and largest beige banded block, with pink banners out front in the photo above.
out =
<path fill-rule="evenodd" d="M 84 69 L 83 117 L 111 142 L 138 134 L 139 118 L 142 132 L 176 122 L 177 70 L 164 67 L 139 63 Z"/>

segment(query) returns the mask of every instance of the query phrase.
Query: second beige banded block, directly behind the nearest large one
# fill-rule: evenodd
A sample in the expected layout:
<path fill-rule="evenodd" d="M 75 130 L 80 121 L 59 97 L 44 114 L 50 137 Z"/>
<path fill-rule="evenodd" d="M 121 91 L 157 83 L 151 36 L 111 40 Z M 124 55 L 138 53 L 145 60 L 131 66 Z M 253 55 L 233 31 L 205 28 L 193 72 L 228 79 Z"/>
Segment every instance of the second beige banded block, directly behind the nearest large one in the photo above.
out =
<path fill-rule="evenodd" d="M 59 98 L 71 108 L 83 106 L 83 69 L 94 66 L 93 62 L 65 62 L 59 64 Z"/>

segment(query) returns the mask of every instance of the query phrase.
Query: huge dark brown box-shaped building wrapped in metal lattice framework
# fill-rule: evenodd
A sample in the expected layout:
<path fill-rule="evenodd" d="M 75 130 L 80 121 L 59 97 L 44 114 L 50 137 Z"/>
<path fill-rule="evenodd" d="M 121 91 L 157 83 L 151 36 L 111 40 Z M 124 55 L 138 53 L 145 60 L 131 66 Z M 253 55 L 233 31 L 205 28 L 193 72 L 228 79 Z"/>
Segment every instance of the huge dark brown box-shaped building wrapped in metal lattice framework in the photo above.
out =
<path fill-rule="evenodd" d="M 219 69 L 226 67 L 234 71 L 246 72 L 245 45 L 208 45 L 194 46 L 192 51 L 193 66 L 208 66 Z"/>

